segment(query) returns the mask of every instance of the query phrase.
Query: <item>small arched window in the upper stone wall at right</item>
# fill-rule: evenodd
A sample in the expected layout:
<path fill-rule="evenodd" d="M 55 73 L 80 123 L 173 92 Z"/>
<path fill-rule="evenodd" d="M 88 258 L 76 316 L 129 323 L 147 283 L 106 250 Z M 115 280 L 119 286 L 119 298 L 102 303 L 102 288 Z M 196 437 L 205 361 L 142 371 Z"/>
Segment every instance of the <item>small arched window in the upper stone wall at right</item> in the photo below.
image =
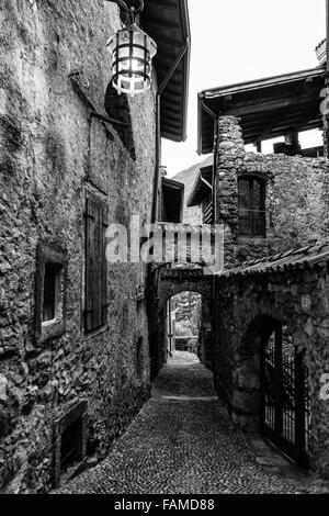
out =
<path fill-rule="evenodd" d="M 239 179 L 239 235 L 266 236 L 265 181 L 254 177 Z"/>

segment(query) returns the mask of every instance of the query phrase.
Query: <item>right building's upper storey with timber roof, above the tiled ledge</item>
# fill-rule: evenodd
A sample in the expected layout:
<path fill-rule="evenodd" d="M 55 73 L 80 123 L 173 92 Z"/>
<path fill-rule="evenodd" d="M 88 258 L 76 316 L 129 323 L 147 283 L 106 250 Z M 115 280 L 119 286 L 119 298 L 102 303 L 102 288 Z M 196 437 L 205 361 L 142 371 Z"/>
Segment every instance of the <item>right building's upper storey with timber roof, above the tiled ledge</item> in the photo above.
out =
<path fill-rule="evenodd" d="M 188 205 L 225 225 L 227 267 L 328 238 L 324 147 L 298 143 L 299 132 L 324 130 L 324 88 L 320 66 L 200 93 L 200 153 L 214 148 L 214 166 L 200 171 Z M 276 136 L 285 143 L 262 154 L 262 141 Z M 246 150 L 251 143 L 258 152 Z"/>

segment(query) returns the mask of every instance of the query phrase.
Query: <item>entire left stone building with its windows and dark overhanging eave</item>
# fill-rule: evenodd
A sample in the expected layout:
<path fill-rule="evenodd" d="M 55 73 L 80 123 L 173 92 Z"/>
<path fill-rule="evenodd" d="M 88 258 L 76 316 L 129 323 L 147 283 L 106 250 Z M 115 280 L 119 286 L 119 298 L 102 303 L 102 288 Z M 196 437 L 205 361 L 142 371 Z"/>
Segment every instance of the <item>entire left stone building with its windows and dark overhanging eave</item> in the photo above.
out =
<path fill-rule="evenodd" d="M 4 0 L 0 20 L 0 487 L 44 492 L 103 458 L 149 395 L 148 269 L 109 265 L 105 231 L 161 211 L 160 137 L 185 138 L 189 14 L 146 0 L 158 54 L 134 98 L 111 86 L 115 2 Z"/>

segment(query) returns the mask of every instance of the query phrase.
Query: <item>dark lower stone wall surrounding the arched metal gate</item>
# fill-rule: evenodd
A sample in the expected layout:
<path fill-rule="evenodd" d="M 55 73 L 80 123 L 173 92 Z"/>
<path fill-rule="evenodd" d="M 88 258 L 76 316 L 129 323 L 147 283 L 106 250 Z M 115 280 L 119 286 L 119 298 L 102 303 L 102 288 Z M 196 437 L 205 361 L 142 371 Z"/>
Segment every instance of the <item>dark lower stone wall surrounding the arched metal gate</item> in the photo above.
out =
<path fill-rule="evenodd" d="M 310 392 L 310 464 L 329 472 L 329 404 L 320 399 L 328 372 L 328 262 L 217 277 L 214 316 L 214 378 L 232 419 L 260 429 L 260 357 L 271 327 L 286 326 L 305 354 Z M 274 268 L 275 269 L 275 268 Z M 270 330 L 270 332 L 269 332 Z"/>

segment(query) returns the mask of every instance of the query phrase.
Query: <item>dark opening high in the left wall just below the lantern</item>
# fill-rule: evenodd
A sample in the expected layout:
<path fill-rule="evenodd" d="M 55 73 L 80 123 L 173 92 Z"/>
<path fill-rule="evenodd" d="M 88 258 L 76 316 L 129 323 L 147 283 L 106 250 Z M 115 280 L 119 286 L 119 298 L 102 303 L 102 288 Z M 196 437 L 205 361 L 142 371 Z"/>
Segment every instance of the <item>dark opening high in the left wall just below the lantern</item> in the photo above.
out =
<path fill-rule="evenodd" d="M 135 160 L 136 150 L 133 122 L 127 96 L 125 93 L 118 94 L 110 82 L 105 92 L 104 106 L 109 117 L 118 122 L 117 124 L 113 123 L 114 128 L 124 147 L 128 150 L 131 157 Z"/>

